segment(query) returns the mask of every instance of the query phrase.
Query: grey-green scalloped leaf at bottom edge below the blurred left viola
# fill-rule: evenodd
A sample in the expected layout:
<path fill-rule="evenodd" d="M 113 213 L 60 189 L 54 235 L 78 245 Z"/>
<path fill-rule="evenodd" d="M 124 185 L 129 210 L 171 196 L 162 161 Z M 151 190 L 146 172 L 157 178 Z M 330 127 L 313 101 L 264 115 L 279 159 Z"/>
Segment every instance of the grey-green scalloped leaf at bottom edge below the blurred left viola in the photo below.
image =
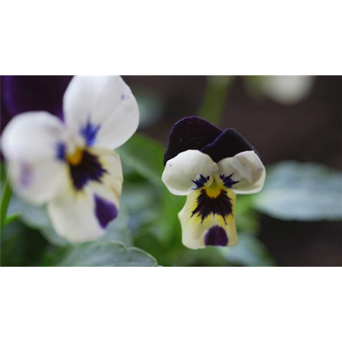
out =
<path fill-rule="evenodd" d="M 139 248 L 127 248 L 116 241 L 95 241 L 68 246 L 55 258 L 49 260 L 53 265 L 117 265 L 117 266 L 155 266 L 152 255 Z"/>

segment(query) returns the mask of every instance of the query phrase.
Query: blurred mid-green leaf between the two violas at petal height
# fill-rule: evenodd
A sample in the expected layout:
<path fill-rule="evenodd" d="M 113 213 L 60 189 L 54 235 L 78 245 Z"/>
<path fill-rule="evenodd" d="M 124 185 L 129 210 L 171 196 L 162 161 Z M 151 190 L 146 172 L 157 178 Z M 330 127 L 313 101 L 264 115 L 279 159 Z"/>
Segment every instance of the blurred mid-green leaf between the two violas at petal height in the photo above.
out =
<path fill-rule="evenodd" d="M 136 133 L 131 139 L 118 148 L 124 165 L 129 166 L 138 174 L 158 186 L 163 186 L 163 145 L 142 133 Z"/>

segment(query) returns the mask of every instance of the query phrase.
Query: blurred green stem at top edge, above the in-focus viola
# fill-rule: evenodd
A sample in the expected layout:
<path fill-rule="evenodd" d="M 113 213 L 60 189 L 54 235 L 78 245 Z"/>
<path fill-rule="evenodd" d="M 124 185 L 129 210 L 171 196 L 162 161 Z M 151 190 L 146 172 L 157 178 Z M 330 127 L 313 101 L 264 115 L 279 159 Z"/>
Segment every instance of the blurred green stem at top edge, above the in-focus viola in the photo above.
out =
<path fill-rule="evenodd" d="M 233 76 L 208 76 L 198 116 L 213 124 L 219 123 L 232 80 Z"/>

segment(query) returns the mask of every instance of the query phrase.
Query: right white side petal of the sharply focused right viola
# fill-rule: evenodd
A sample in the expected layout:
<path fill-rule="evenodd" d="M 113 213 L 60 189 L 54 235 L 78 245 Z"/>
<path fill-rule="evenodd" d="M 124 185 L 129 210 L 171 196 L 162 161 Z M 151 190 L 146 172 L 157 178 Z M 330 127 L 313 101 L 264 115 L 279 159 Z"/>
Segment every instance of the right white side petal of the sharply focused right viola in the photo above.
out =
<path fill-rule="evenodd" d="M 254 151 L 245 151 L 222 159 L 218 166 L 220 174 L 232 175 L 231 179 L 238 182 L 232 186 L 237 194 L 255 194 L 263 188 L 265 166 Z"/>

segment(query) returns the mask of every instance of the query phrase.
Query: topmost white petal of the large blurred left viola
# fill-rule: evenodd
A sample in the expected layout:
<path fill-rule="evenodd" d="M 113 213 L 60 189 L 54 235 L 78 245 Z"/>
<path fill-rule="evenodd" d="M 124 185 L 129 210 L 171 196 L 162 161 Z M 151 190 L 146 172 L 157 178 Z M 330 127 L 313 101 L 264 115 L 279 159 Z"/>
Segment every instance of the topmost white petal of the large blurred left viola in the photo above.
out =
<path fill-rule="evenodd" d="M 137 130 L 139 110 L 120 76 L 75 76 L 64 94 L 66 124 L 79 134 L 87 124 L 97 131 L 92 144 L 114 149 Z"/>

